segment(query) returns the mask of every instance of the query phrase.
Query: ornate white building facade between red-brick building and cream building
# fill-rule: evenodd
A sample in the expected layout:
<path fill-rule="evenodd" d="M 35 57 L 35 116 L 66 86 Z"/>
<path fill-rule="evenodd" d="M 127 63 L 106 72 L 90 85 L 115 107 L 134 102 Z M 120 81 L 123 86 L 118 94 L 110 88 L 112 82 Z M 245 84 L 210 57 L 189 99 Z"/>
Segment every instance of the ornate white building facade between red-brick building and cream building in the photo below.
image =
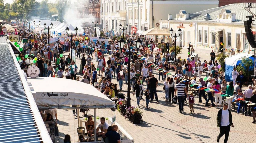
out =
<path fill-rule="evenodd" d="M 126 0 L 102 0 L 100 20 L 102 28 L 119 30 L 119 25 L 126 25 Z"/>

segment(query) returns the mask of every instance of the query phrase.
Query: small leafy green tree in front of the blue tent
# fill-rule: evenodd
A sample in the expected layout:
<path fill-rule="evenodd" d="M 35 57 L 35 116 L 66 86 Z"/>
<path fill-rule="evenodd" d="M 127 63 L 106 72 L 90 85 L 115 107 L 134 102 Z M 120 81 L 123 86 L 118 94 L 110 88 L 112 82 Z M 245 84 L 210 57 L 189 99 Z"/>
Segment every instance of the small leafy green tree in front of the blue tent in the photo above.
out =
<path fill-rule="evenodd" d="M 253 60 L 251 58 L 243 58 L 242 61 L 237 66 L 237 71 L 243 71 L 243 75 L 247 76 L 247 83 L 249 81 L 250 75 L 253 75 Z"/>

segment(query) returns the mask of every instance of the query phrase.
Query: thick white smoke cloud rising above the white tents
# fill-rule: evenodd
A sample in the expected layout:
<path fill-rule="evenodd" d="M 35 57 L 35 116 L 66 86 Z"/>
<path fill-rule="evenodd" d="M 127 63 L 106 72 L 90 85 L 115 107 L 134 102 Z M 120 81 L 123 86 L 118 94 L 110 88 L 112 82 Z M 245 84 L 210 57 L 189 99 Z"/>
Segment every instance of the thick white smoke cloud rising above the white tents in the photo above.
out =
<path fill-rule="evenodd" d="M 78 31 L 83 32 L 83 27 L 85 27 L 85 23 L 92 23 L 92 21 L 95 22 L 94 19 L 96 18 L 92 14 L 88 14 L 88 12 L 82 13 L 82 16 L 80 16 L 81 18 L 79 18 L 79 11 L 88 10 L 87 8 L 84 8 L 84 6 L 86 5 L 90 5 L 88 0 L 75 0 L 72 1 L 71 5 L 66 5 L 67 7 L 65 8 L 65 14 L 63 17 L 65 23 L 71 24 L 74 28 L 77 27 Z"/>

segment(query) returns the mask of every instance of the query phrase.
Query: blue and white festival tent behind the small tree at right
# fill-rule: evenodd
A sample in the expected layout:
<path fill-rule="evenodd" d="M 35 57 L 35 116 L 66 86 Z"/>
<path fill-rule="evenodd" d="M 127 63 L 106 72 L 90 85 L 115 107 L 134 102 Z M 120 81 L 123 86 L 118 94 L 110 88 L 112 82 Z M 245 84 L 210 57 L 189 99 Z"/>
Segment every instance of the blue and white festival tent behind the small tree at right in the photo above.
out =
<path fill-rule="evenodd" d="M 251 58 L 254 61 L 253 54 L 238 53 L 230 57 L 225 58 L 225 79 L 226 81 L 232 81 L 232 71 L 234 67 L 238 66 L 243 58 Z"/>

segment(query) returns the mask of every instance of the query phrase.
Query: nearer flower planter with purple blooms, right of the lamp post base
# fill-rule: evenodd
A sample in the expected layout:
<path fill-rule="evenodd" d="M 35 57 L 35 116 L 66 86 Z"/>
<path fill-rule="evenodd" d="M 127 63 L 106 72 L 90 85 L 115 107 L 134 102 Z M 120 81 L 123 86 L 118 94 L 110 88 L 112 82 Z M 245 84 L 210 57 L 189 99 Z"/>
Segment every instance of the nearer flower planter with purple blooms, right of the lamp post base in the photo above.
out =
<path fill-rule="evenodd" d="M 143 122 L 142 111 L 139 108 L 135 108 L 134 106 L 127 107 L 125 119 L 128 119 L 130 122 L 133 122 L 134 124 L 139 124 Z"/>

